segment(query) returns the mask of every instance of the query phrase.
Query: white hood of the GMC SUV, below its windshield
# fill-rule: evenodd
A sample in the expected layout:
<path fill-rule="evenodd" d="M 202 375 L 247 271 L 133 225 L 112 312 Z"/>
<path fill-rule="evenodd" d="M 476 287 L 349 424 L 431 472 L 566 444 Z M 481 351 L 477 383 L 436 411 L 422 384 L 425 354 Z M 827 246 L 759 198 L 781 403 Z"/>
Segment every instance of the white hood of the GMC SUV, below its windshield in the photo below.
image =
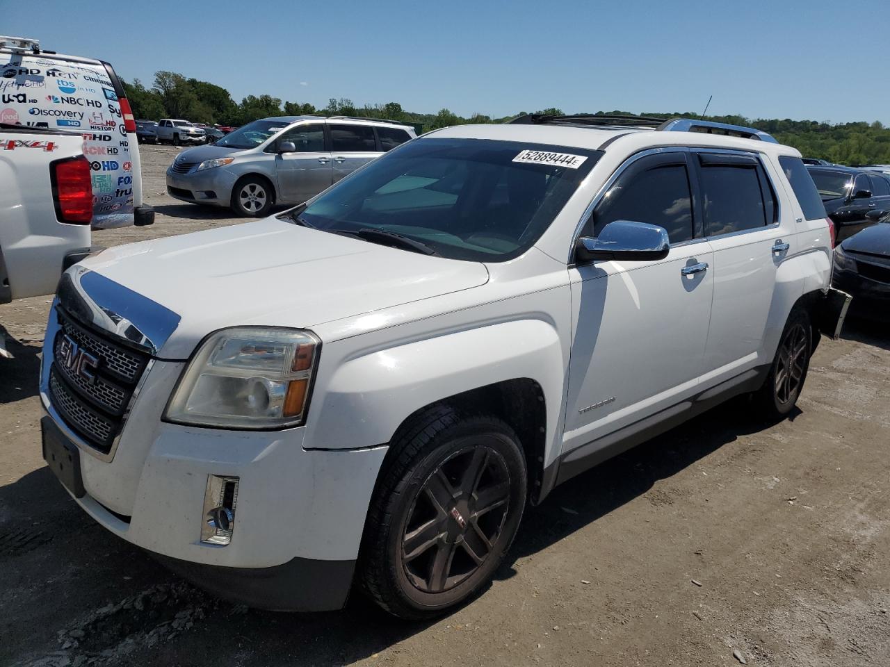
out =
<path fill-rule="evenodd" d="M 158 352 L 166 359 L 188 358 L 207 333 L 226 326 L 312 328 L 489 279 L 479 262 L 411 253 L 277 218 L 121 245 L 80 266 L 180 317 Z"/>

